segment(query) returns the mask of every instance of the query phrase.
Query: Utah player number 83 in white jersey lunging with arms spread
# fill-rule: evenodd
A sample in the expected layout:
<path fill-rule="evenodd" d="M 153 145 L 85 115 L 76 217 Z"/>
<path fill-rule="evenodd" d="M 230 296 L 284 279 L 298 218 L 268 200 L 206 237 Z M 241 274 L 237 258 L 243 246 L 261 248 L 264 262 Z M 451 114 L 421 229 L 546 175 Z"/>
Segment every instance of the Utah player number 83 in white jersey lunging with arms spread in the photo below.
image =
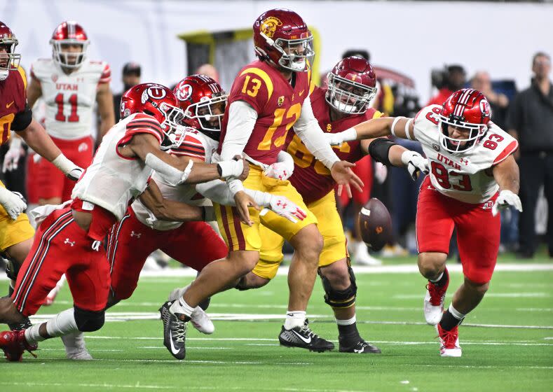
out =
<path fill-rule="evenodd" d="M 428 279 L 424 315 L 428 324 L 437 325 L 442 356 L 461 356 L 458 325 L 489 288 L 499 248 L 498 209 L 522 211 L 519 167 L 512 155 L 519 144 L 490 117 L 486 97 L 466 88 L 415 118 L 379 118 L 329 135 L 332 144 L 388 134 L 421 142 L 430 176 L 418 196 L 418 268 Z M 444 311 L 453 228 L 465 280 Z"/>

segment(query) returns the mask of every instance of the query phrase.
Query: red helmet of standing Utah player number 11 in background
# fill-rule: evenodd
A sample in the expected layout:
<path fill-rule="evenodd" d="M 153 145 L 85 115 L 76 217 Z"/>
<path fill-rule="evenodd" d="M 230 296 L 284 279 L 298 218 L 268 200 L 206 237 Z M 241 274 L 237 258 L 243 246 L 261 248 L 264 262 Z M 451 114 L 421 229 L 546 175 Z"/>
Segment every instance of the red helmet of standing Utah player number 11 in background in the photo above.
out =
<path fill-rule="evenodd" d="M 57 64 L 66 68 L 77 68 L 86 56 L 86 48 L 88 48 L 88 36 L 86 32 L 78 25 L 77 22 L 67 21 L 62 22 L 61 25 L 56 27 L 50 44 L 52 45 L 52 57 Z M 80 45 L 80 52 L 69 52 L 67 46 Z"/>

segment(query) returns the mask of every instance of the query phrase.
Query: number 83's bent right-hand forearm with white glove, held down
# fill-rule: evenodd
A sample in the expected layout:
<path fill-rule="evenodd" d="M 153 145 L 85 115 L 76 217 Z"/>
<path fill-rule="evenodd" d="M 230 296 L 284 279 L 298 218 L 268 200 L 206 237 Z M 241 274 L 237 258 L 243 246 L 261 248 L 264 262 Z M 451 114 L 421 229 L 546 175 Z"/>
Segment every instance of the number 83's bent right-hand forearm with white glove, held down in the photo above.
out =
<path fill-rule="evenodd" d="M 522 203 L 518 195 L 520 187 L 519 165 L 514 160 L 514 156 L 509 155 L 508 158 L 499 162 L 498 165 L 493 167 L 492 172 L 500 190 L 499 196 L 491 209 L 493 216 L 498 214 L 499 209 L 509 206 L 522 211 Z"/>

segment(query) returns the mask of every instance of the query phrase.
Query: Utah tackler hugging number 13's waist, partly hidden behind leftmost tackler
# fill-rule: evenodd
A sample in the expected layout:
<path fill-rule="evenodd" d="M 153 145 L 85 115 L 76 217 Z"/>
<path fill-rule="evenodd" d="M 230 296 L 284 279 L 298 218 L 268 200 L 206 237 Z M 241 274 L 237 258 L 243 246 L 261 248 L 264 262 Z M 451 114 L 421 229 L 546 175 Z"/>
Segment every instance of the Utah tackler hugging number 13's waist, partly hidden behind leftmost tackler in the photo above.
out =
<path fill-rule="evenodd" d="M 211 162 L 212 152 L 219 146 L 220 120 L 226 106 L 226 94 L 215 80 L 203 75 L 184 78 L 174 91 L 179 99 L 179 106 L 186 111 L 183 123 L 187 127 L 180 136 L 184 139 L 169 148 L 168 153 L 183 161 Z M 206 120 L 207 116 L 209 120 Z M 109 231 L 107 258 L 111 265 L 111 288 L 107 307 L 132 295 L 146 257 L 156 249 L 161 249 L 196 271 L 201 271 L 209 262 L 226 256 L 226 244 L 207 222 L 183 223 L 184 220 L 189 221 L 190 213 L 186 205 L 182 206 L 183 203 L 205 205 L 204 194 L 221 204 L 233 205 L 233 198 L 225 195 L 228 188 L 224 183 L 215 180 L 197 185 L 183 183 L 175 186 L 157 173 L 153 174 L 152 179 L 165 200 L 144 200 L 144 197 L 151 195 L 146 193 L 131 204 L 121 221 Z M 242 194 L 238 193 L 237 197 Z M 273 204 L 278 208 L 276 200 L 287 202 L 283 197 L 268 194 L 250 195 L 263 207 L 271 208 Z M 267 204 L 264 204 L 264 198 L 268 198 Z M 205 221 L 214 221 L 212 212 L 212 208 L 206 207 Z M 174 290 L 170 300 L 178 300 L 184 289 Z M 213 323 L 200 307 L 194 309 L 191 318 L 191 322 L 200 332 L 209 334 L 214 331 Z M 178 335 L 179 332 L 175 330 L 173 333 Z M 62 337 L 67 358 L 92 358 L 86 351 L 82 335 L 81 332 Z"/>

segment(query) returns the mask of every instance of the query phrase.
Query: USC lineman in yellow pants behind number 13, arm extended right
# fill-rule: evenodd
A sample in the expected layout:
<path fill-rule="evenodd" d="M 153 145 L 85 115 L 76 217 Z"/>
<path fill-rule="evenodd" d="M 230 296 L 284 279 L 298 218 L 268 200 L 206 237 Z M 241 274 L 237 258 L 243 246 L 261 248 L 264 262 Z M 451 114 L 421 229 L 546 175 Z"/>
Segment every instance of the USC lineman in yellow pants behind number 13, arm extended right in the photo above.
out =
<path fill-rule="evenodd" d="M 310 94 L 313 114 L 327 132 L 341 132 L 364 120 L 379 118 L 382 113 L 370 109 L 376 94 L 376 74 L 371 64 L 362 57 L 347 57 L 329 73 L 328 88 L 315 87 Z M 339 330 L 341 352 L 380 353 L 375 346 L 362 339 L 357 331 L 355 297 L 357 285 L 350 265 L 343 225 L 336 211 L 334 179 L 318 160 L 315 160 L 295 134 L 288 134 L 287 151 L 294 158 L 295 168 L 289 181 L 298 190 L 307 208 L 318 221 L 324 239 L 319 258 L 319 275 L 325 289 L 325 302 L 334 310 Z M 370 154 L 385 165 L 408 166 L 412 176 L 425 171 L 426 160 L 388 139 L 349 141 L 335 146 L 342 160 L 356 162 Z M 413 162 L 409 165 L 409 162 Z M 264 286 L 276 275 L 282 262 L 284 238 L 268 228 L 261 227 L 261 255 L 253 271 L 238 285 L 240 289 Z"/>

